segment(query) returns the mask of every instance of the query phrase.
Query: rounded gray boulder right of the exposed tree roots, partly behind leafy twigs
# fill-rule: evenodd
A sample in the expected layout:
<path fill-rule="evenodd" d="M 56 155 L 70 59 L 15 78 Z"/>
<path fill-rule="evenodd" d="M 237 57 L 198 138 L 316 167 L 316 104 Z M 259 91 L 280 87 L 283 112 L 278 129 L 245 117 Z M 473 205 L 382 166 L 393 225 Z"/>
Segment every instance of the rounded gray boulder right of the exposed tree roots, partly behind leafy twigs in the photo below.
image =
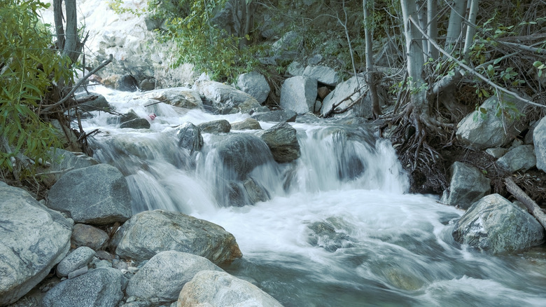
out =
<path fill-rule="evenodd" d="M 508 95 L 501 95 L 503 104 L 512 105 L 519 112 L 525 103 Z M 457 125 L 457 139 L 472 149 L 482 150 L 503 146 L 526 128 L 525 117 L 519 118 L 512 109 L 503 116 L 496 116 L 498 97 L 487 99 L 476 111 L 468 114 Z"/>

